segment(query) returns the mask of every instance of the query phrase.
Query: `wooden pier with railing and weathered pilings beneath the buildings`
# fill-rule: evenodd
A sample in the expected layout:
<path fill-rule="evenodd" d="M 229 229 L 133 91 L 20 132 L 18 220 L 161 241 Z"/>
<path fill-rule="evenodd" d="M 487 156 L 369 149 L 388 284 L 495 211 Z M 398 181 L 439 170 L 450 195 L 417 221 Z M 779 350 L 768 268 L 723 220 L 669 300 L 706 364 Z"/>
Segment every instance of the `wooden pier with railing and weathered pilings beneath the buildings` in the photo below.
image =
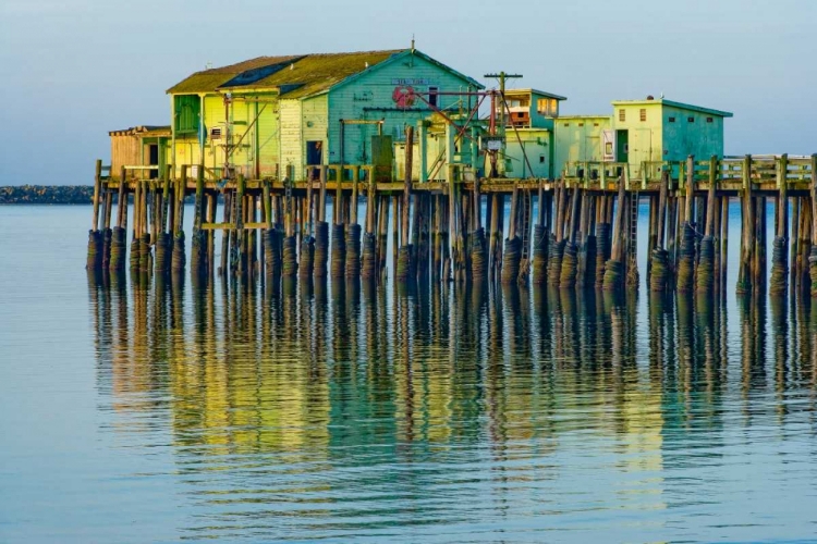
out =
<path fill-rule="evenodd" d="M 533 282 L 611 292 L 637 288 L 646 274 L 654 292 L 723 297 L 733 265 L 739 294 L 817 295 L 817 154 L 690 157 L 638 168 L 571 162 L 558 180 L 474 178 L 470 169 L 448 164 L 444 181 L 422 183 L 411 178 L 412 160 L 410 152 L 402 181 L 369 164 L 246 180 L 220 178 L 203 165 L 181 166 L 178 178 L 171 166 L 110 172 L 97 161 L 87 268 L 130 268 L 142 277 L 188 267 L 199 277 L 383 282 L 391 275 L 400 283 Z M 190 196 L 187 234 L 183 205 Z M 776 212 L 767 277 L 770 200 Z M 643 202 L 649 206 L 646 233 L 637 222 Z M 732 243 L 740 244 L 740 260 L 730 263 L 728 223 L 735 206 L 741 233 Z M 642 271 L 638 236 L 647 236 L 649 257 Z"/>

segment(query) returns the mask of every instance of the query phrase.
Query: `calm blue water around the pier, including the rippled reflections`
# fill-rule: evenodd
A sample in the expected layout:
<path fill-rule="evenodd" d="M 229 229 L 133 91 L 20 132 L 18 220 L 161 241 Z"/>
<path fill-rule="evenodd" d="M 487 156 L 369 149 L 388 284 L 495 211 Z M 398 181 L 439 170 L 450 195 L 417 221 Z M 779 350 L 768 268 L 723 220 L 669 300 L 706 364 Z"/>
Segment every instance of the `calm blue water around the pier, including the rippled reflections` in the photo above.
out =
<path fill-rule="evenodd" d="M 0 542 L 817 539 L 817 305 L 97 284 L 88 222 L 0 208 Z"/>

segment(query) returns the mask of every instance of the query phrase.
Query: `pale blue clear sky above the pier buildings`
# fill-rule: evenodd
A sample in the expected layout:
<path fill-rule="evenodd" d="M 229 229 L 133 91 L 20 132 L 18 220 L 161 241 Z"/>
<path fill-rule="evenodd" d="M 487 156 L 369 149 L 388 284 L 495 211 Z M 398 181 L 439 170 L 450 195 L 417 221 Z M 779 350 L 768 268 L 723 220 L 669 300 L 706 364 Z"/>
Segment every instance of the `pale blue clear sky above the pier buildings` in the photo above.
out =
<path fill-rule="evenodd" d="M 727 153 L 817 152 L 815 0 L 0 0 L 0 185 L 88 184 L 108 131 L 169 123 L 207 62 L 417 48 L 565 113 L 660 95 L 734 112 Z M 492 84 L 491 84 L 492 85 Z"/>

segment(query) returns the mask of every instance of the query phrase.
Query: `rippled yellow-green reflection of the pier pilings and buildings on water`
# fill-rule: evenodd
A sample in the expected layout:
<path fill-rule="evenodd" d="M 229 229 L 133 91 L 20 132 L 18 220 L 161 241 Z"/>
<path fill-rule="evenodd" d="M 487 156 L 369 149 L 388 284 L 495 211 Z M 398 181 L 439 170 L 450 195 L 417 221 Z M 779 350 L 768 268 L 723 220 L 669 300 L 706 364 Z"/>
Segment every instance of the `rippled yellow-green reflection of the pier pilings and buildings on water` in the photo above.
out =
<path fill-rule="evenodd" d="M 112 432 L 170 433 L 194 539 L 671 509 L 710 485 L 664 475 L 727 446 L 728 404 L 815 409 L 817 308 L 785 298 L 186 282 L 89 297 Z"/>

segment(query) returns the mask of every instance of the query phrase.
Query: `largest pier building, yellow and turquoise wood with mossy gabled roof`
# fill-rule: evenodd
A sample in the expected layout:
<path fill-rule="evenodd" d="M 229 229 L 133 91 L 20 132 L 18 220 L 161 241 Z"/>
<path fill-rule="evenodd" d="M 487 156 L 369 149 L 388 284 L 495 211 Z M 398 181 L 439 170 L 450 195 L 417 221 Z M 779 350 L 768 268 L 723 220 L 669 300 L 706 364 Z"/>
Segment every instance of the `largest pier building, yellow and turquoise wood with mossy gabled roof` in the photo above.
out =
<path fill-rule="evenodd" d="M 431 106 L 456 109 L 461 97 L 444 92 L 479 88 L 414 48 L 260 57 L 205 70 L 168 89 L 169 162 L 176 174 L 202 163 L 208 177 L 295 180 L 310 165 L 369 164 L 373 145 L 399 145 Z"/>

